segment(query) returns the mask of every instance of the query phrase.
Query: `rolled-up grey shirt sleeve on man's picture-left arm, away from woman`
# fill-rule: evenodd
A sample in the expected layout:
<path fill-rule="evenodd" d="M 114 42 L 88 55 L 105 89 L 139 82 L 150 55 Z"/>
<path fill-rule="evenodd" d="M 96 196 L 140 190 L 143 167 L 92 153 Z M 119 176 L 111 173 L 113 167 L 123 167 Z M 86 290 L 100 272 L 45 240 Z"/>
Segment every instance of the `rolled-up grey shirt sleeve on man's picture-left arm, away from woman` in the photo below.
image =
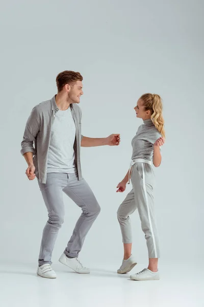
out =
<path fill-rule="evenodd" d="M 35 141 L 39 130 L 40 115 L 37 108 L 34 107 L 25 125 L 23 140 L 21 142 L 21 155 L 24 155 L 25 152 L 33 152 L 34 155 L 36 154 L 36 149 L 33 146 L 33 142 Z"/>

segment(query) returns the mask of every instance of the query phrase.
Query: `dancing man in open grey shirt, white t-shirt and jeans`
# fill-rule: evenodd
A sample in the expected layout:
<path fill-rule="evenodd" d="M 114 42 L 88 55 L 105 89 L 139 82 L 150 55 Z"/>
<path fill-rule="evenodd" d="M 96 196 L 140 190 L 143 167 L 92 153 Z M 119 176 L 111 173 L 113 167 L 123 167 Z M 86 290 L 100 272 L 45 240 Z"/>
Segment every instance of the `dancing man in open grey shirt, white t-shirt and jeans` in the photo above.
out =
<path fill-rule="evenodd" d="M 51 256 L 64 218 L 62 192 L 82 208 L 82 214 L 59 261 L 77 273 L 90 273 L 78 259 L 84 239 L 100 212 L 89 185 L 82 177 L 80 146 L 119 145 L 120 135 L 87 138 L 81 135 L 83 77 L 64 71 L 57 78 L 58 94 L 36 105 L 25 126 L 21 154 L 28 163 L 29 180 L 38 179 L 47 207 L 48 221 L 44 227 L 37 274 L 56 278 Z M 33 146 L 35 143 L 35 147 Z"/>

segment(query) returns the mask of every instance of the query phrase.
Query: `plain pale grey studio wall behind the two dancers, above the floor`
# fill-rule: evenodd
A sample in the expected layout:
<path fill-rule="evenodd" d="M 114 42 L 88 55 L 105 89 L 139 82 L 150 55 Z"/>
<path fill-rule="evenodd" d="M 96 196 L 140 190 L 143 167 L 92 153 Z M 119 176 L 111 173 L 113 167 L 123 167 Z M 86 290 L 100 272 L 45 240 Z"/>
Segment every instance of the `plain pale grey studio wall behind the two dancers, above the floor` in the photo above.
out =
<path fill-rule="evenodd" d="M 203 250 L 203 2 L 7 1 L 1 7 L 1 253 L 2 261 L 36 262 L 46 209 L 37 180 L 20 156 L 34 105 L 56 93 L 63 70 L 84 76 L 82 131 L 121 134 L 119 147 L 82 148 L 83 176 L 101 213 L 80 258 L 86 266 L 122 260 L 116 194 L 141 120 L 133 107 L 145 92 L 164 101 L 166 144 L 155 169 L 163 263 L 201 260 Z M 53 254 L 64 250 L 80 209 L 66 196 L 66 216 Z M 132 215 L 134 254 L 146 263 L 138 213 Z"/>

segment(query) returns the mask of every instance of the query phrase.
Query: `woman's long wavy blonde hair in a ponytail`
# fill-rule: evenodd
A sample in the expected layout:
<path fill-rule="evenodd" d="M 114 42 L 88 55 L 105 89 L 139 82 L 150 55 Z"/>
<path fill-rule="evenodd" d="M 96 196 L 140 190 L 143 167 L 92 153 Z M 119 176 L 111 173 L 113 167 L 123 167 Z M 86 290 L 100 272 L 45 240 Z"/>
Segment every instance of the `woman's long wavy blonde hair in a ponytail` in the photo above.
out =
<path fill-rule="evenodd" d="M 155 127 L 165 138 L 164 118 L 162 115 L 163 105 L 161 97 L 157 94 L 147 93 L 142 95 L 140 99 L 143 101 L 145 111 L 150 111 L 152 123 L 154 123 Z"/>

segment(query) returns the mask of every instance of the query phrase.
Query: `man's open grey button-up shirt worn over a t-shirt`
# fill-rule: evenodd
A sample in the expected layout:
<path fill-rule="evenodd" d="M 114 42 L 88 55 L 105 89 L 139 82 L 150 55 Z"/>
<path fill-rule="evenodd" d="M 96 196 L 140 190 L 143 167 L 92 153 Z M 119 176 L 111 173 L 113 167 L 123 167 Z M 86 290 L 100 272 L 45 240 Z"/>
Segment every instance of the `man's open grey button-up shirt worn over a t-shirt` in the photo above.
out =
<path fill-rule="evenodd" d="M 83 136 L 81 135 L 81 108 L 77 103 L 70 104 L 71 115 L 73 117 L 76 136 L 74 141 L 75 165 L 78 170 L 78 179 L 82 179 L 80 162 L 80 147 Z M 51 138 L 51 127 L 55 120 L 55 115 L 59 111 L 55 101 L 55 96 L 51 100 L 41 102 L 36 105 L 25 125 L 23 140 L 21 142 L 21 154 L 33 152 L 33 162 L 35 165 L 36 177 L 41 183 L 46 183 L 47 178 L 47 158 Z M 35 146 L 34 146 L 35 144 Z"/>

